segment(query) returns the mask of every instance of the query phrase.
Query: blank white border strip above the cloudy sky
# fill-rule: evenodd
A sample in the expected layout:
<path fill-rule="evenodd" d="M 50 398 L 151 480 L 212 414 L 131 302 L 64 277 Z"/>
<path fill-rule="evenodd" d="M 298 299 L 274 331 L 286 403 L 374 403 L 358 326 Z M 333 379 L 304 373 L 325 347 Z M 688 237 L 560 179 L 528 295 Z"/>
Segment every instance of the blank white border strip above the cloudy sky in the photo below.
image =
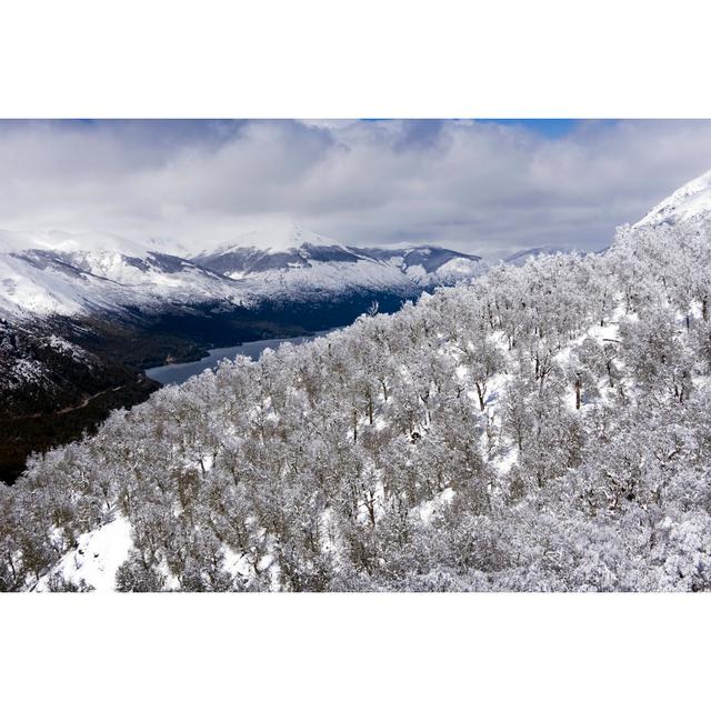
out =
<path fill-rule="evenodd" d="M 23 0 L 0 116 L 709 118 L 698 0 Z"/>

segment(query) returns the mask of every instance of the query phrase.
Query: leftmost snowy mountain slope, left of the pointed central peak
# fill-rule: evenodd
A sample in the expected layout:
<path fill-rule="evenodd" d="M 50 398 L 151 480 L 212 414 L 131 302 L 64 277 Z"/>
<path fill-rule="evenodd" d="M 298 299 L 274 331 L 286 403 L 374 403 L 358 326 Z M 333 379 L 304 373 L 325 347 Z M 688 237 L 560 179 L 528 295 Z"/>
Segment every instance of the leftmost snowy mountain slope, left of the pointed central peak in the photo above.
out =
<path fill-rule="evenodd" d="M 112 234 L 0 232 L 0 316 L 87 316 L 228 300 L 240 284 Z"/>

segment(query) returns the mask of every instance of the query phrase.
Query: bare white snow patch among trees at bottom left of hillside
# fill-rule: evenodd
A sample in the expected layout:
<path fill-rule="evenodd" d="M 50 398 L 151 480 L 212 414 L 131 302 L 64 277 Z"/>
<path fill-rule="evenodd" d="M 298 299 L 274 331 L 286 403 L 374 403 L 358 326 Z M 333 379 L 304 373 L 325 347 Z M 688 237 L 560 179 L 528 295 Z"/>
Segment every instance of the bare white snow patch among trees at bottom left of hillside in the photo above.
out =
<path fill-rule="evenodd" d="M 99 529 L 82 533 L 74 549 L 61 560 L 33 588 L 49 591 L 49 578 L 60 573 L 68 582 L 81 584 L 83 580 L 98 592 L 116 590 L 116 572 L 126 561 L 133 545 L 131 524 L 122 515 Z"/>

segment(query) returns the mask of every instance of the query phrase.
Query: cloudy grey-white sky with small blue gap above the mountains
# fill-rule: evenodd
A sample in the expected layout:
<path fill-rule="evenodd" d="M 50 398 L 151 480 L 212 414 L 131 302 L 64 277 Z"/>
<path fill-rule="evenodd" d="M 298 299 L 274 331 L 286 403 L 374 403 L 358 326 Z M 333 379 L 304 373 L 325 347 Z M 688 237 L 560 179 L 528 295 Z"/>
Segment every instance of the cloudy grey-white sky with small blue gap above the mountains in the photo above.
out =
<path fill-rule="evenodd" d="M 0 229 L 199 251 L 291 220 L 352 244 L 598 249 L 711 169 L 711 121 L 0 121 Z"/>

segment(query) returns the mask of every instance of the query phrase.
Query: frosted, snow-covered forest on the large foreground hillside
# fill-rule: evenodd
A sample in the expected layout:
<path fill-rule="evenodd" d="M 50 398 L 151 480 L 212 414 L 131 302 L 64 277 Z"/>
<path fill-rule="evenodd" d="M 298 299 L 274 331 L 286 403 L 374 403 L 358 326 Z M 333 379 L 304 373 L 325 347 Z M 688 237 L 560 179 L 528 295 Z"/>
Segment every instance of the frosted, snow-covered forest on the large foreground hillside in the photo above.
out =
<path fill-rule="evenodd" d="M 0 488 L 0 589 L 710 590 L 710 298 L 625 227 L 224 361 Z"/>

